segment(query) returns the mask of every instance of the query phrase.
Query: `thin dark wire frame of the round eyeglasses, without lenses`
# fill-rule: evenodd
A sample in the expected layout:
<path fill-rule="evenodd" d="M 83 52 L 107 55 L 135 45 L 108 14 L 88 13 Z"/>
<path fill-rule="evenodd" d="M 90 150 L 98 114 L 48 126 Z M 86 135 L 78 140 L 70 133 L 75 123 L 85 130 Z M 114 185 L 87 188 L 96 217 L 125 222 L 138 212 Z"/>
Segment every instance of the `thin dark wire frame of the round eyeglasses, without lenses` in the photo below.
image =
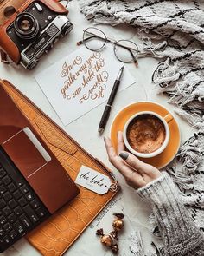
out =
<path fill-rule="evenodd" d="M 139 53 L 139 49 L 138 49 L 138 46 L 137 46 L 136 43 L 132 42 L 131 40 L 126 40 L 126 39 L 120 39 L 120 40 L 118 40 L 118 41 L 113 40 L 113 39 L 111 39 L 111 38 L 108 38 L 102 30 L 99 30 L 99 31 L 105 36 L 105 38 L 103 38 L 103 37 L 101 37 L 101 36 L 95 35 L 94 33 L 87 32 L 87 30 L 89 30 L 89 29 L 99 30 L 98 28 L 95 28 L 95 27 L 88 27 L 88 28 L 86 28 L 86 30 L 83 30 L 83 31 L 84 31 L 83 40 L 82 40 L 82 41 L 79 41 L 79 42 L 77 43 L 78 45 L 84 43 L 87 49 L 90 49 L 90 50 L 92 50 L 92 51 L 97 51 L 97 52 L 98 52 L 98 51 L 101 51 L 102 49 L 105 48 L 105 43 L 112 43 L 112 44 L 113 44 L 113 47 L 114 47 L 114 48 L 113 48 L 114 54 L 115 54 L 115 56 L 117 57 L 117 59 L 118 59 L 119 62 L 124 62 L 124 63 L 132 63 L 132 62 L 134 62 L 134 63 L 136 64 L 136 66 L 138 66 L 138 62 L 137 62 L 136 57 L 137 57 L 137 55 L 138 55 L 138 53 Z M 90 35 L 92 34 L 92 36 L 85 38 L 85 33 L 88 33 L 88 34 L 90 34 Z M 104 41 L 104 44 L 103 44 L 99 49 L 91 49 L 91 48 L 89 48 L 89 47 L 86 45 L 86 41 L 92 39 L 93 37 L 96 37 L 97 39 L 101 39 L 101 40 Z M 122 45 L 122 44 L 119 44 L 118 42 L 121 42 L 121 41 L 131 42 L 131 43 L 133 43 L 133 44 L 136 46 L 137 49 L 131 49 L 131 47 L 127 47 L 127 46 L 124 46 L 124 45 Z M 122 47 L 122 48 L 124 48 L 124 49 L 127 49 L 127 50 L 131 53 L 132 61 L 128 62 L 128 61 L 122 61 L 121 59 L 119 59 L 118 56 L 117 56 L 117 54 L 116 54 L 116 46 L 119 46 L 119 47 Z M 136 55 L 136 56 L 132 53 L 132 50 L 137 51 L 137 55 Z"/>

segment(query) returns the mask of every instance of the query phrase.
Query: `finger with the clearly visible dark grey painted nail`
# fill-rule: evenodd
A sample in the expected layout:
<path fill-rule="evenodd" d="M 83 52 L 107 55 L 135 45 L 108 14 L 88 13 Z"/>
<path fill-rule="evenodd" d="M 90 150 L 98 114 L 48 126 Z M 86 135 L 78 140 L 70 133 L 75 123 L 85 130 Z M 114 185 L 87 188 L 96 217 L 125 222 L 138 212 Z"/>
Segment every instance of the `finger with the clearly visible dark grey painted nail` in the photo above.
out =
<path fill-rule="evenodd" d="M 134 154 L 122 151 L 119 156 L 132 168 L 136 169 L 139 173 L 145 172 L 147 164 L 140 161 Z"/>

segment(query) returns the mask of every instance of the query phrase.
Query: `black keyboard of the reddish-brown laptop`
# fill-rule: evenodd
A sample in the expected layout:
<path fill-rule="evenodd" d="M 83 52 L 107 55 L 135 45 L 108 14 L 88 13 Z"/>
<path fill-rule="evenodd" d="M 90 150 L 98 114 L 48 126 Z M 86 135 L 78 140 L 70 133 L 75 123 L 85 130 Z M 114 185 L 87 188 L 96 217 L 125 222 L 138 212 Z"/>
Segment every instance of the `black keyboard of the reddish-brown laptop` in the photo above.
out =
<path fill-rule="evenodd" d="M 0 147 L 0 253 L 49 216 L 29 182 Z"/>

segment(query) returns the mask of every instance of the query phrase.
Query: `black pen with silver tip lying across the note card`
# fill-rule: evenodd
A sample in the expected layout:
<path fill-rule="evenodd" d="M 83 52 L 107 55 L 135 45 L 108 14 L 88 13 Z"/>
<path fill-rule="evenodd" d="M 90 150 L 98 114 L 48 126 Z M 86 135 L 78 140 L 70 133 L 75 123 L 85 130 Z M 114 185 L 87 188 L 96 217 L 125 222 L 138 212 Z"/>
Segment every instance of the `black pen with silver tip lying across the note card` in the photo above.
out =
<path fill-rule="evenodd" d="M 98 132 L 99 132 L 100 135 L 104 132 L 105 125 L 108 121 L 110 112 L 112 110 L 112 103 L 114 102 L 115 96 L 117 94 L 118 87 L 119 87 L 119 84 L 120 84 L 120 79 L 123 75 L 123 71 L 124 71 L 124 66 L 119 70 L 116 81 L 114 82 L 114 85 L 112 87 L 111 95 L 109 96 L 108 102 L 107 102 L 107 104 L 105 106 L 105 109 L 104 109 L 104 113 L 101 117 L 101 120 L 100 120 L 100 123 L 99 123 L 99 128 L 98 128 Z"/>

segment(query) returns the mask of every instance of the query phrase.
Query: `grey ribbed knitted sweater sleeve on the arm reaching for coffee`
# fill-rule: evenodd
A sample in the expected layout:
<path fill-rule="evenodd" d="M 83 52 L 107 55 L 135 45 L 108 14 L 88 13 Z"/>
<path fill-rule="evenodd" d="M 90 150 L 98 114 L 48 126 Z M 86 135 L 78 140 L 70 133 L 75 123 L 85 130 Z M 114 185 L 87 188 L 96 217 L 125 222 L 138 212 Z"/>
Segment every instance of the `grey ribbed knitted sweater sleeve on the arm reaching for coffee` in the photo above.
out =
<path fill-rule="evenodd" d="M 188 215 L 169 174 L 164 172 L 157 180 L 139 188 L 137 194 L 153 208 L 163 236 L 164 255 L 204 255 L 204 236 Z"/>

